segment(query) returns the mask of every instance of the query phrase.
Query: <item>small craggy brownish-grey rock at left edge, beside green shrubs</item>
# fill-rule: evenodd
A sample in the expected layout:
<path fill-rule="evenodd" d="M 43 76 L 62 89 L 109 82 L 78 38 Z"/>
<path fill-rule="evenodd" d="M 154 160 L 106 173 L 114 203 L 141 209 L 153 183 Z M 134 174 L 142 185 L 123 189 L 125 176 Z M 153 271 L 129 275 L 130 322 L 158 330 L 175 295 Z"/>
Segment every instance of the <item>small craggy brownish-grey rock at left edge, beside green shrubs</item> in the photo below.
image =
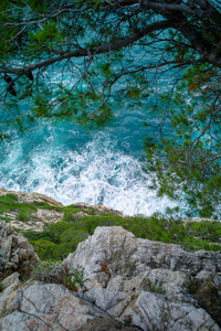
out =
<path fill-rule="evenodd" d="M 10 224 L 0 221 L 0 280 L 14 271 L 30 276 L 31 265 L 38 261 L 33 247 Z"/>

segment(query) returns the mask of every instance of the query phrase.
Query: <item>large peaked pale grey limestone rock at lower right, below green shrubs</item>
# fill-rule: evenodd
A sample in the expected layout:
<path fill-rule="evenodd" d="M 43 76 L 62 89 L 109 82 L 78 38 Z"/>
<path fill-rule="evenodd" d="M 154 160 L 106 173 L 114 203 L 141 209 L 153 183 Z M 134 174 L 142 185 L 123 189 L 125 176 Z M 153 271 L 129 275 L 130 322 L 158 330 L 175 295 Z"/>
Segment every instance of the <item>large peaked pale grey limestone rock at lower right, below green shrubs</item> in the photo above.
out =
<path fill-rule="evenodd" d="M 124 323 L 143 330 L 220 330 L 215 323 L 221 312 L 217 286 L 220 252 L 192 253 L 178 245 L 136 238 L 122 227 L 97 227 L 62 265 L 83 266 L 90 278 L 87 298 Z M 204 281 L 219 297 L 217 312 L 209 309 L 207 303 L 189 291 L 196 279 L 198 288 Z"/>

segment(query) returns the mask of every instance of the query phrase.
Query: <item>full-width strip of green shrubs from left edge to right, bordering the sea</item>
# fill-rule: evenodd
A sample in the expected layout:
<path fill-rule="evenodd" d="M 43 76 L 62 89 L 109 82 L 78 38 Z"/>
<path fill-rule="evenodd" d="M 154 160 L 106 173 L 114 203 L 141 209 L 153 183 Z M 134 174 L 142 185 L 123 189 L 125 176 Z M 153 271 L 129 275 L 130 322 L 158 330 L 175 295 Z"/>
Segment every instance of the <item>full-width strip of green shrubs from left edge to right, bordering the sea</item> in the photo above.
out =
<path fill-rule="evenodd" d="M 74 204 L 52 206 L 46 202 L 19 203 L 14 194 L 0 196 L 0 214 L 15 212 L 17 218 L 22 222 L 31 221 L 32 213 L 38 209 L 64 213 L 60 222 L 45 223 L 42 232 L 23 232 L 42 260 L 64 259 L 76 249 L 78 243 L 93 235 L 97 226 L 114 225 L 123 226 L 136 237 L 178 244 L 191 250 L 221 250 L 221 223 L 217 221 L 183 222 L 172 212 L 167 216 L 156 213 L 150 217 L 123 217 Z M 0 220 L 10 221 L 6 215 L 1 215 Z"/>

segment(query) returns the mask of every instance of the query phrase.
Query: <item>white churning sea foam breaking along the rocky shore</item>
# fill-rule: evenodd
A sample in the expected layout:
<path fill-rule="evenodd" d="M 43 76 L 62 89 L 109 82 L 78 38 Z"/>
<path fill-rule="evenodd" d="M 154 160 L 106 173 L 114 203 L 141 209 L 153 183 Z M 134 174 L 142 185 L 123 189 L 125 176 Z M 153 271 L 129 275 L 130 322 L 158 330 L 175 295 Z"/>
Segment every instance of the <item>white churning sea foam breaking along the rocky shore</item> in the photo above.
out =
<path fill-rule="evenodd" d="M 40 192 L 65 205 L 103 204 L 127 215 L 150 215 L 173 206 L 148 190 L 139 161 L 106 134 L 95 135 L 75 150 L 48 141 L 44 149 L 35 148 L 29 153 L 28 162 L 21 156 L 21 146 L 17 145 L 1 163 L 2 174 L 3 169 L 10 171 L 1 175 L 0 186 Z"/>

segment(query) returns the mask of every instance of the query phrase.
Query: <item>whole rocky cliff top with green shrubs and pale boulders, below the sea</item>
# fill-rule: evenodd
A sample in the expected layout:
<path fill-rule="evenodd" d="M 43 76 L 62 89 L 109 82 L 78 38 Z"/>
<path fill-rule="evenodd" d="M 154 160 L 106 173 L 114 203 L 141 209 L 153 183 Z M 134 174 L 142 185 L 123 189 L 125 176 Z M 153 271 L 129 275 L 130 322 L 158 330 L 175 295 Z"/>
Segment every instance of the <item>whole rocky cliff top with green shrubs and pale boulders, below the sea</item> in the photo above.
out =
<path fill-rule="evenodd" d="M 0 195 L 0 330 L 221 330 L 219 223 Z M 62 261 L 49 258 L 56 249 Z"/>

